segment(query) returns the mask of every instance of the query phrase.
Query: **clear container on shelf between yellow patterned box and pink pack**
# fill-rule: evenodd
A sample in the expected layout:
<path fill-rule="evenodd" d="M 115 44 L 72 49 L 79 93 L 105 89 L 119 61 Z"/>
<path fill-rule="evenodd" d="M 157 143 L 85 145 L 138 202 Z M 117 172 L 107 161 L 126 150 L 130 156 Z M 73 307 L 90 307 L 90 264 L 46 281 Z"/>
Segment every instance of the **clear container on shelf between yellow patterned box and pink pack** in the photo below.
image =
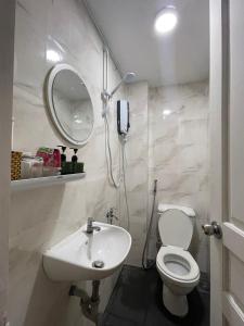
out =
<path fill-rule="evenodd" d="M 22 156 L 22 179 L 43 176 L 43 159 L 25 154 Z"/>

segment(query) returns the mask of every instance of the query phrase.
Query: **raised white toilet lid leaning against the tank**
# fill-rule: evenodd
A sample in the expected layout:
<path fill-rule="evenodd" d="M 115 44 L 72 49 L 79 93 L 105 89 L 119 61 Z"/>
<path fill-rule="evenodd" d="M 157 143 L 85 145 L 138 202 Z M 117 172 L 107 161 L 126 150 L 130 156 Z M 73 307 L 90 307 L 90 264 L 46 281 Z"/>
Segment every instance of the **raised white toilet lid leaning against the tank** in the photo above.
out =
<path fill-rule="evenodd" d="M 164 246 L 188 249 L 193 235 L 191 218 L 179 210 L 168 210 L 160 214 L 158 230 Z"/>

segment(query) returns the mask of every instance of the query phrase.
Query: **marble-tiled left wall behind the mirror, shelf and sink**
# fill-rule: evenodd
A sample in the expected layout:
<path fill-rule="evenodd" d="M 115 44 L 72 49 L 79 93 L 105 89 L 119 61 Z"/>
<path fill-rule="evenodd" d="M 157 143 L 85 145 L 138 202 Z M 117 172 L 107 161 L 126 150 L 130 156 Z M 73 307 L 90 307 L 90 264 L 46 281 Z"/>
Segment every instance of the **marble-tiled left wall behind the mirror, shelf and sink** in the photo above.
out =
<path fill-rule="evenodd" d="M 94 133 L 78 152 L 87 177 L 66 186 L 12 195 L 10 218 L 10 300 L 14 326 L 88 325 L 69 284 L 53 284 L 42 272 L 41 252 L 82 225 L 88 216 L 105 221 L 106 210 L 118 206 L 119 193 L 106 179 L 102 103 L 102 43 L 79 0 L 18 0 L 15 23 L 14 139 L 13 149 L 36 152 L 39 146 L 62 145 L 48 120 L 43 84 L 48 71 L 60 62 L 81 74 L 94 104 Z M 110 87 L 119 76 L 110 62 Z M 117 93 L 123 96 L 123 89 Z M 114 99 L 116 100 L 116 98 Z M 115 110 L 110 114 L 111 143 L 117 172 L 119 147 Z M 67 152 L 68 158 L 72 151 Z M 102 284 L 101 309 L 114 278 Z M 89 284 L 81 284 L 84 288 Z M 73 304 L 74 303 L 74 304 Z"/>

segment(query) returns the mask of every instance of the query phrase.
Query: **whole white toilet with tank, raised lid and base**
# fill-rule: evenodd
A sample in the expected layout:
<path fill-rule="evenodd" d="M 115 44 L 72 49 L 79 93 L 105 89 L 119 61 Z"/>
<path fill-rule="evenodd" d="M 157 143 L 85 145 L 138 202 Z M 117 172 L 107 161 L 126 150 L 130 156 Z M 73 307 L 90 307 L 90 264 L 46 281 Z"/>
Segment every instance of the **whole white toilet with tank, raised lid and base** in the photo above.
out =
<path fill-rule="evenodd" d="M 191 208 L 158 204 L 158 231 L 163 246 L 156 267 L 163 280 L 163 302 L 176 316 L 188 314 L 188 299 L 200 281 L 200 268 L 188 251 L 193 235 L 195 212 Z"/>

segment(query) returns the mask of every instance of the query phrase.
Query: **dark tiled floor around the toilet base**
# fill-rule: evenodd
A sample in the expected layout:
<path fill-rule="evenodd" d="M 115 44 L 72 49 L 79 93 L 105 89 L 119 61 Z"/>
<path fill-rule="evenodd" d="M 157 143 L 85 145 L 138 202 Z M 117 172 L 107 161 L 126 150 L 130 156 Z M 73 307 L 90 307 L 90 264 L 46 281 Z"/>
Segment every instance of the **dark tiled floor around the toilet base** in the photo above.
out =
<path fill-rule="evenodd" d="M 124 266 L 100 326 L 209 326 L 209 293 L 194 290 L 188 296 L 189 314 L 172 317 L 162 303 L 157 271 Z"/>

